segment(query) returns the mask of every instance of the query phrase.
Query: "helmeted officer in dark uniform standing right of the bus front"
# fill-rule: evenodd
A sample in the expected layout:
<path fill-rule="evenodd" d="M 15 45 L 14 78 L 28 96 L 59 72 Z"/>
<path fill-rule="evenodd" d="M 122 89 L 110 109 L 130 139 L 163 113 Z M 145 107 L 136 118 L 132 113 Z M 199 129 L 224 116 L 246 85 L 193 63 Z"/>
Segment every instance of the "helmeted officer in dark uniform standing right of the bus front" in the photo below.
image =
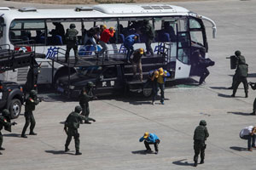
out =
<path fill-rule="evenodd" d="M 242 82 L 243 83 L 243 88 L 245 92 L 245 97 L 248 97 L 248 83 L 247 83 L 247 76 L 248 76 L 248 65 L 246 64 L 246 60 L 244 56 L 241 55 L 241 52 L 237 50 L 235 52 L 237 61 L 236 61 L 236 80 L 234 82 L 234 87 L 233 87 L 233 94 L 231 97 L 236 96 L 236 90 L 239 86 L 239 84 Z"/>

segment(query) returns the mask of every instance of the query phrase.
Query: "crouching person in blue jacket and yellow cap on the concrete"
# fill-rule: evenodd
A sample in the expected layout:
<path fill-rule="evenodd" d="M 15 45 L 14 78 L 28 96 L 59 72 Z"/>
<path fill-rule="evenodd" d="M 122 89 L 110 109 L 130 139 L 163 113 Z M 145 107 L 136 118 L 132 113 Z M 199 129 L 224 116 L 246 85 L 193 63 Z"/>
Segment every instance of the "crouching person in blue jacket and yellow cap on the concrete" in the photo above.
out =
<path fill-rule="evenodd" d="M 154 153 L 158 154 L 158 144 L 160 143 L 160 139 L 154 133 L 144 133 L 143 137 L 140 139 L 140 142 L 143 142 L 143 140 L 147 152 L 152 151 L 149 144 L 154 144 Z"/>

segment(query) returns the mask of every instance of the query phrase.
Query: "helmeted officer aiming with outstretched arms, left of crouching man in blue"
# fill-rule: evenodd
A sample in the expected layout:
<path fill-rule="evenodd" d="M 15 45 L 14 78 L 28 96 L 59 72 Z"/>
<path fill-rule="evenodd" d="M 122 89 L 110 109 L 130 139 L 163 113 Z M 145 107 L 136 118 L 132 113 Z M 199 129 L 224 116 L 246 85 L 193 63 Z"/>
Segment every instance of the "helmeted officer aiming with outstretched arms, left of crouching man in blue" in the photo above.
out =
<path fill-rule="evenodd" d="M 75 107 L 75 111 L 71 112 L 68 116 L 67 116 L 67 120 L 65 122 L 65 127 L 64 130 L 67 133 L 67 140 L 66 140 L 66 144 L 65 144 L 65 151 L 67 152 L 68 149 L 68 145 L 71 142 L 72 137 L 74 138 L 75 141 L 75 148 L 76 148 L 76 155 L 82 155 L 81 152 L 79 152 L 79 144 L 80 144 L 80 140 L 79 140 L 79 124 L 82 120 L 84 121 L 94 121 L 94 119 L 91 119 L 90 117 L 85 117 L 80 115 L 80 112 L 82 111 L 82 108 L 77 105 Z"/>

